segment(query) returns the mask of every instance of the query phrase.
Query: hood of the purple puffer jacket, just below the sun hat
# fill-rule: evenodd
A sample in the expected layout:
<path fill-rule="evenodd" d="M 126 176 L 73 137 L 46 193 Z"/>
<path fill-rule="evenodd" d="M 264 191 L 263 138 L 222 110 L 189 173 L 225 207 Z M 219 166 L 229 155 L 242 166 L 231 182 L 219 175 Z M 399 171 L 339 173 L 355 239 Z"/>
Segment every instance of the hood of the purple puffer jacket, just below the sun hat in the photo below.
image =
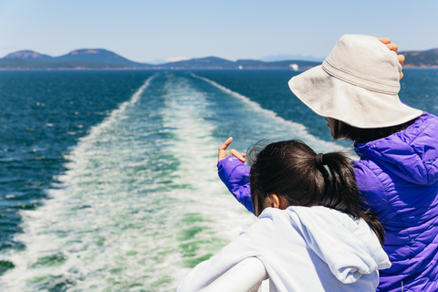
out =
<path fill-rule="evenodd" d="M 436 141 L 431 144 L 431 141 Z M 424 113 L 406 130 L 376 141 L 361 143 L 356 153 L 409 183 L 438 181 L 438 119 Z"/>

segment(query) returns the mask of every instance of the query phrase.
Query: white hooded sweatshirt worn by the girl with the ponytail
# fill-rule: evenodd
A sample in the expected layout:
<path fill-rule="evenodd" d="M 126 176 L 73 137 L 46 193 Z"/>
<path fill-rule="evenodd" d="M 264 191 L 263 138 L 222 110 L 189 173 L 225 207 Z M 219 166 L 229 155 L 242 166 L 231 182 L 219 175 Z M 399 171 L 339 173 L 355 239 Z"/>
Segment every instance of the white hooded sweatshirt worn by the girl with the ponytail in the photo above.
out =
<path fill-rule="evenodd" d="M 363 219 L 322 206 L 266 208 L 177 291 L 199 291 L 247 257 L 266 267 L 271 291 L 375 291 L 391 263 Z"/>

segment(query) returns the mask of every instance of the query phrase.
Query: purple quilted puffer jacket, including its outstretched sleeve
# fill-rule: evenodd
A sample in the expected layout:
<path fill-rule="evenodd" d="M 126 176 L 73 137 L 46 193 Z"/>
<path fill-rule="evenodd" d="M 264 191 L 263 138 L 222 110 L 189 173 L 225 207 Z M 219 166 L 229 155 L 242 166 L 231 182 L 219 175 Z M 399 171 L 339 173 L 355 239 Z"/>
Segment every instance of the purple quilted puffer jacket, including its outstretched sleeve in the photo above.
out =
<path fill-rule="evenodd" d="M 392 266 L 378 291 L 438 291 L 438 118 L 424 113 L 408 129 L 359 144 L 353 162 L 360 193 L 386 231 Z M 252 213 L 249 167 L 230 156 L 219 177 Z"/>

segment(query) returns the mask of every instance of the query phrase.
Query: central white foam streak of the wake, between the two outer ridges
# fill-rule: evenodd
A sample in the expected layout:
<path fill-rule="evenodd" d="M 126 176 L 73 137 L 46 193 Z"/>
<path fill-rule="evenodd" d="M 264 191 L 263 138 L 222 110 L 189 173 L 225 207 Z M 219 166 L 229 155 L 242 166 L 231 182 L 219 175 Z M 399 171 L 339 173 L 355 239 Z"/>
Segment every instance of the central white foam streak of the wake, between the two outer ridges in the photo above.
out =
<path fill-rule="evenodd" d="M 178 87 L 175 88 L 175 84 Z M 191 203 L 183 205 L 184 214 L 199 214 L 203 217 L 204 222 L 198 225 L 206 229 L 196 235 L 199 236 L 198 241 L 209 242 L 212 237 L 224 239 L 216 243 L 214 249 L 210 244 L 204 245 L 212 254 L 238 235 L 245 226 L 254 222 L 255 217 L 236 203 L 218 180 L 215 166 L 220 142 L 213 138 L 216 125 L 203 119 L 214 114 L 207 110 L 208 101 L 204 94 L 191 89 L 187 79 L 178 82 L 171 80 L 168 87 L 169 94 L 166 96 L 162 116 L 165 127 L 175 129 L 175 139 L 168 150 L 181 162 L 172 181 L 186 184 L 186 187 L 175 189 L 168 195 L 174 199 L 190 199 Z M 191 241 L 192 238 L 186 239 L 185 243 L 190 244 Z M 173 271 L 178 279 L 187 272 L 187 268 Z"/>

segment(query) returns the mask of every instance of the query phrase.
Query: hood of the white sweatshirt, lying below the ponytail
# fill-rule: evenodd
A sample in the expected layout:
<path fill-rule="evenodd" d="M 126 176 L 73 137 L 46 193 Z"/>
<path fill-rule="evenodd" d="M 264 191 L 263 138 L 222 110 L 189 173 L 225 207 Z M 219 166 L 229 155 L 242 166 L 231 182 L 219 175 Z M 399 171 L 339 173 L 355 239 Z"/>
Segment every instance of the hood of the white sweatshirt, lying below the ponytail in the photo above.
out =
<path fill-rule="evenodd" d="M 322 206 L 294 206 L 287 213 L 340 282 L 354 283 L 362 275 L 391 266 L 377 235 L 363 219 Z"/>

